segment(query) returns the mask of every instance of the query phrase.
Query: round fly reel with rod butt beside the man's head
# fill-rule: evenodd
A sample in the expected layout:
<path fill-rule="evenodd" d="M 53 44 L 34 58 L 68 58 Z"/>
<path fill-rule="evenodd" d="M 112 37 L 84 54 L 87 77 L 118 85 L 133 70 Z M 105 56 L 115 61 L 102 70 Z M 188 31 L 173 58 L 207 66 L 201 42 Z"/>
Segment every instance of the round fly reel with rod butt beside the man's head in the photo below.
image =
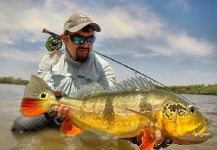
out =
<path fill-rule="evenodd" d="M 47 39 L 47 42 L 46 42 L 46 48 L 49 52 L 52 52 L 54 50 L 60 50 L 60 48 L 62 47 L 63 43 L 62 43 L 62 40 L 60 38 L 59 35 L 53 33 L 53 32 L 50 32 L 49 30 L 47 29 L 43 29 L 42 31 L 43 33 L 48 33 L 50 34 L 51 36 Z"/>

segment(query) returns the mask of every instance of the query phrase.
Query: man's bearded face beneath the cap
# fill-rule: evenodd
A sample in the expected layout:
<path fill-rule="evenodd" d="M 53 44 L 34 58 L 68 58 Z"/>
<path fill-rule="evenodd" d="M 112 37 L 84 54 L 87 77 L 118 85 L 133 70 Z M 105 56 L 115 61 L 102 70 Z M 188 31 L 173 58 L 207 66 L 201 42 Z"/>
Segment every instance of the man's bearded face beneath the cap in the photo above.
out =
<path fill-rule="evenodd" d="M 84 62 L 88 59 L 93 48 L 93 43 L 88 43 L 87 38 L 91 38 L 92 36 L 94 36 L 94 30 L 92 28 L 89 28 L 87 32 L 80 30 L 75 33 L 68 33 L 66 47 L 74 60 Z M 76 40 L 79 42 L 79 38 L 85 39 L 82 44 L 74 42 Z"/>

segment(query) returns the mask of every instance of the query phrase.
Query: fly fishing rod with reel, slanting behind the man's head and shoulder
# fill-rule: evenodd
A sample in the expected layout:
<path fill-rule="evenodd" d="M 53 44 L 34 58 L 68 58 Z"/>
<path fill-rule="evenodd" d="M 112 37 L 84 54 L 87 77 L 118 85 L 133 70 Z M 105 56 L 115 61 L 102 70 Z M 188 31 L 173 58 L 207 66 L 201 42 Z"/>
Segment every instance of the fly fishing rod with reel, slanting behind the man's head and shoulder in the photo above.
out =
<path fill-rule="evenodd" d="M 62 47 L 62 40 L 61 40 L 60 35 L 58 35 L 58 34 L 56 34 L 54 32 L 51 32 L 51 31 L 49 31 L 49 30 L 47 30 L 45 28 L 42 30 L 42 32 L 51 35 L 48 38 L 47 42 L 46 42 L 46 48 L 48 49 L 48 51 L 52 52 L 54 50 L 60 50 L 60 48 Z M 103 57 L 105 57 L 105 58 L 107 58 L 107 59 L 109 59 L 109 60 L 111 60 L 113 62 L 116 62 L 116 63 L 118 63 L 118 64 L 120 64 L 120 65 L 122 65 L 122 66 L 124 66 L 124 67 L 126 67 L 126 68 L 128 68 L 128 69 L 130 69 L 132 71 L 134 71 L 135 73 L 138 73 L 138 74 L 140 74 L 140 75 L 142 75 L 142 76 L 150 79 L 151 81 L 153 81 L 153 82 L 155 82 L 155 83 L 163 86 L 164 88 L 168 89 L 169 91 L 174 92 L 173 90 L 171 90 L 169 87 L 165 86 L 164 84 L 158 82 L 157 80 L 155 80 L 155 79 L 153 79 L 153 78 L 145 75 L 144 73 L 142 73 L 142 72 L 140 72 L 140 71 L 138 71 L 138 70 L 136 70 L 136 69 L 134 69 L 134 68 L 132 68 L 132 67 L 130 67 L 128 65 L 125 65 L 125 64 L 123 64 L 123 63 L 121 63 L 121 62 L 119 62 L 119 61 L 117 61 L 117 60 L 115 60 L 115 59 L 113 59 L 111 57 L 108 57 L 108 56 L 106 56 L 106 55 L 104 55 L 104 54 L 102 54 L 100 52 L 97 52 L 97 51 L 93 51 L 93 52 L 95 52 L 95 53 L 97 53 L 97 54 L 99 54 L 99 55 L 101 55 L 101 56 L 103 56 Z M 176 93 L 176 92 L 174 92 L 174 93 Z M 182 96 L 182 95 L 180 95 L 180 96 Z"/>

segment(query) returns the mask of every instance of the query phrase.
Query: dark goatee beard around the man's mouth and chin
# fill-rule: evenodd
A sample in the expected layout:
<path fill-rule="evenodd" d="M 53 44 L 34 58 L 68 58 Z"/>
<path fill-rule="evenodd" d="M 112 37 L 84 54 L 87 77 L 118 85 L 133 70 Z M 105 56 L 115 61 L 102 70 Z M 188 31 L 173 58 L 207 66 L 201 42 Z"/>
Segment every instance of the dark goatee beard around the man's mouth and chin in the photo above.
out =
<path fill-rule="evenodd" d="M 76 51 L 76 60 L 78 62 L 85 62 L 90 56 L 90 49 L 84 47 L 78 47 Z"/>

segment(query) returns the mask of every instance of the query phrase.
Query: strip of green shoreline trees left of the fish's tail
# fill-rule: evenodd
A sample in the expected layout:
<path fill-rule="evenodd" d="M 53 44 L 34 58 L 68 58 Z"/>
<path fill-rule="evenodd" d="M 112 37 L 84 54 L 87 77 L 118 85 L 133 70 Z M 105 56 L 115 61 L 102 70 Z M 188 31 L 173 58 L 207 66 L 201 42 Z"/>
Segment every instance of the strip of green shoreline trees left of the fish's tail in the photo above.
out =
<path fill-rule="evenodd" d="M 26 85 L 28 81 L 21 78 L 15 79 L 13 77 L 0 77 L 0 83 Z"/>

